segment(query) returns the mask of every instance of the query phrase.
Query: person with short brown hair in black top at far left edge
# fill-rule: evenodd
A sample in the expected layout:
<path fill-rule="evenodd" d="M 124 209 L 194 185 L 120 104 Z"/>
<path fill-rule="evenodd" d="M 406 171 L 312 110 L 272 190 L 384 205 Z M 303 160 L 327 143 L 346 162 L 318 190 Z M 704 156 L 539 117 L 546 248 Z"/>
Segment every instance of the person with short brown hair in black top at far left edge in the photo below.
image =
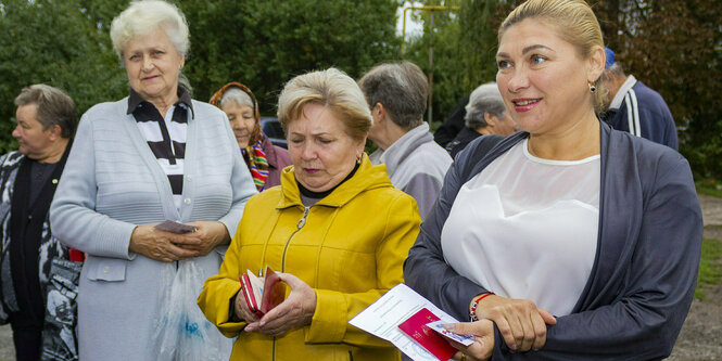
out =
<path fill-rule="evenodd" d="M 50 233 L 48 209 L 77 125 L 75 104 L 46 85 L 15 98 L 20 149 L 0 157 L 0 322 L 10 322 L 17 360 L 40 359 L 51 265 L 71 252 Z M 72 326 L 71 326 L 72 327 Z M 73 352 L 73 333 L 63 341 Z M 58 336 L 58 335 L 55 335 Z"/>

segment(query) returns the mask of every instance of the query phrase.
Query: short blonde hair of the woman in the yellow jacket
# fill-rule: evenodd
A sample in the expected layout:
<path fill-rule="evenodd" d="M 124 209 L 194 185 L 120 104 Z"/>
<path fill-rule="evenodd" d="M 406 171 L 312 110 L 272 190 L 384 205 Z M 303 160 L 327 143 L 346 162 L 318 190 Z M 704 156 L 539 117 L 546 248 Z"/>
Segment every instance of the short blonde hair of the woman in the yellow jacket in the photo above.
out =
<path fill-rule="evenodd" d="M 287 134 L 289 124 L 299 119 L 311 103 L 328 106 L 354 140 L 364 140 L 373 125 L 358 85 L 337 68 L 299 75 L 286 83 L 278 96 L 278 118 Z"/>

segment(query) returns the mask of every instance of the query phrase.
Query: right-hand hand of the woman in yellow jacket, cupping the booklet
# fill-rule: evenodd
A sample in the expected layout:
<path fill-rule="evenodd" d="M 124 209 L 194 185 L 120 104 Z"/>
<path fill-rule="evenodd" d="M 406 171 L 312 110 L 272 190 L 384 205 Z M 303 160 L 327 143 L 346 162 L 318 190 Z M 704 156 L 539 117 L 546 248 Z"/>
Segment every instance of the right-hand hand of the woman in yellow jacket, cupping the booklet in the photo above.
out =
<path fill-rule="evenodd" d="M 281 281 L 291 287 L 289 298 L 264 314 L 261 320 L 246 325 L 244 331 L 275 337 L 311 324 L 316 312 L 316 292 L 291 273 L 279 275 Z"/>

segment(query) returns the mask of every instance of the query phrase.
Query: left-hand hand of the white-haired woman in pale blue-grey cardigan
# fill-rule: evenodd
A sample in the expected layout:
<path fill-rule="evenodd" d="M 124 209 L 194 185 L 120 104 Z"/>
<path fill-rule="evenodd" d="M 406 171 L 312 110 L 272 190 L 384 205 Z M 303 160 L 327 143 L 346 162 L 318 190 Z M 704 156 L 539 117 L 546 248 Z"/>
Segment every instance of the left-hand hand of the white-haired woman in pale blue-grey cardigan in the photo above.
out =
<path fill-rule="evenodd" d="M 178 234 L 161 231 L 155 224 L 138 225 L 130 235 L 128 250 L 162 262 L 197 257 L 199 253 L 186 248 L 193 240 L 179 240 Z"/>

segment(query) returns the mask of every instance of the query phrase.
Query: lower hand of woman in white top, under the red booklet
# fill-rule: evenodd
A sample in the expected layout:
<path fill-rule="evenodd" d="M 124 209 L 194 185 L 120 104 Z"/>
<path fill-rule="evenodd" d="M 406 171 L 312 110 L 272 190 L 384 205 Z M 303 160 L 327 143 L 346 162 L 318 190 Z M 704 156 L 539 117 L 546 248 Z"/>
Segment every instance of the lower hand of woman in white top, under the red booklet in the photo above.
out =
<path fill-rule="evenodd" d="M 459 343 L 451 341 L 459 352 L 454 356 L 455 360 L 485 361 L 491 359 L 494 351 L 494 324 L 490 320 L 480 320 L 476 322 L 461 322 L 444 325 L 446 330 L 459 335 L 472 335 L 473 344 L 464 346 Z M 461 353 L 466 354 L 461 358 Z"/>

